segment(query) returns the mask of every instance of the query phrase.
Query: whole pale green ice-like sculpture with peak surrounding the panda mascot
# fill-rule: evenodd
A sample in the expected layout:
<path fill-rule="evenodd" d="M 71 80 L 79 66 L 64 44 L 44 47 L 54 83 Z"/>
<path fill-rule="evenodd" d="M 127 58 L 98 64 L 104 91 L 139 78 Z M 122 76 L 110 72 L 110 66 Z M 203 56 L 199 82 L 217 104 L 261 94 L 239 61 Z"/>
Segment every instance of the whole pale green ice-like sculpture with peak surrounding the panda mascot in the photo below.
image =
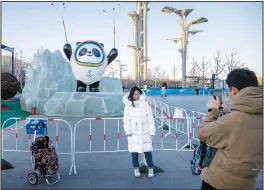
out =
<path fill-rule="evenodd" d="M 77 82 L 59 51 L 43 51 L 26 71 L 21 109 L 46 116 L 96 117 L 121 116 L 122 85 L 119 79 L 102 78 L 100 92 L 76 92 Z"/>

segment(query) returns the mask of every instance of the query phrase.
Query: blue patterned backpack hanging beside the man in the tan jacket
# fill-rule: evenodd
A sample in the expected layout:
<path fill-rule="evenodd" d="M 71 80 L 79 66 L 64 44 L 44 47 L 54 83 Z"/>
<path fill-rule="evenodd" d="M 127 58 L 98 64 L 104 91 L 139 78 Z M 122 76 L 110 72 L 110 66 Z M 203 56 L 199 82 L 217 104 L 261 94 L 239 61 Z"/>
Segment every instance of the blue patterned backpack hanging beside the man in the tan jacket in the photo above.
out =
<path fill-rule="evenodd" d="M 202 163 L 206 154 L 207 145 L 203 142 L 194 148 L 193 159 L 190 160 L 193 175 L 200 175 L 202 171 Z"/>

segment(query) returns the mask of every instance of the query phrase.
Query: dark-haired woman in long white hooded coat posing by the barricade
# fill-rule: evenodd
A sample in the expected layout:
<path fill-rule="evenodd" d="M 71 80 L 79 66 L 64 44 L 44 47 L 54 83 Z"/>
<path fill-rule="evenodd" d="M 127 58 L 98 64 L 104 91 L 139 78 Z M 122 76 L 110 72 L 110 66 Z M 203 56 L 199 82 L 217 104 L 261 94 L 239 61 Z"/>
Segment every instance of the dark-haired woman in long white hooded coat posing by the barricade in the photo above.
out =
<path fill-rule="evenodd" d="M 128 151 L 132 154 L 134 175 L 140 177 L 138 154 L 144 153 L 148 165 L 148 176 L 154 177 L 154 163 L 152 160 L 152 139 L 155 136 L 155 123 L 150 109 L 146 102 L 146 96 L 141 89 L 133 87 L 123 97 L 124 110 L 124 131 L 128 136 Z"/>

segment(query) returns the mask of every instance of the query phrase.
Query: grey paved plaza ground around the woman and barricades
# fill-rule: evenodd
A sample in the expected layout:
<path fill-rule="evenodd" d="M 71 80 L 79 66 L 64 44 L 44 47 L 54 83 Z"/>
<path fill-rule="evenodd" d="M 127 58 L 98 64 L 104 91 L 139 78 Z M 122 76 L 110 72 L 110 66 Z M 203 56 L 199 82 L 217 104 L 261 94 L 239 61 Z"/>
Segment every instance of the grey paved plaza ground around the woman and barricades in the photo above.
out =
<path fill-rule="evenodd" d="M 195 98 L 194 98 L 195 97 Z M 158 97 L 157 97 L 158 98 Z M 169 96 L 167 101 L 175 106 L 184 107 L 197 111 L 203 111 L 208 97 L 206 96 Z M 192 107 L 189 106 L 192 105 Z M 188 107 L 189 106 L 189 107 Z M 67 118 L 72 128 L 80 118 Z M 27 182 L 27 175 L 32 171 L 30 152 L 4 152 L 4 157 L 10 161 L 15 169 L 2 172 L 3 189 L 198 189 L 200 188 L 200 177 L 194 176 L 190 171 L 189 160 L 192 152 L 179 151 L 187 142 L 187 136 L 180 133 L 176 144 L 175 138 L 168 136 L 162 143 L 161 131 L 157 131 L 154 140 L 153 153 L 155 165 L 165 170 L 157 174 L 153 179 L 146 175 L 136 179 L 132 173 L 131 156 L 128 152 L 102 153 L 95 151 L 114 151 L 127 149 L 127 141 L 122 128 L 122 120 L 119 121 L 120 138 L 118 134 L 118 120 L 106 121 L 106 141 L 104 147 L 104 122 L 92 121 L 91 130 L 89 121 L 80 123 L 76 131 L 76 152 L 91 151 L 88 154 L 76 155 L 77 174 L 68 175 L 70 169 L 70 156 L 60 154 L 61 181 L 55 186 L 48 186 L 43 179 L 39 180 L 37 186 L 31 186 Z M 18 128 L 23 126 L 18 124 Z M 58 123 L 59 144 L 58 152 L 70 152 L 70 129 L 65 123 Z M 158 126 L 158 123 L 157 123 Z M 49 134 L 54 144 L 56 134 L 56 122 L 49 122 Z M 165 131 L 166 132 L 166 131 Z M 4 148 L 15 149 L 15 131 L 4 132 Z M 90 135 L 92 141 L 90 145 Z M 119 144 L 118 144 L 119 143 Z M 160 150 L 162 149 L 170 150 Z M 25 129 L 18 130 L 17 147 L 19 150 L 28 150 L 28 136 Z M 177 149 L 176 149 L 177 147 Z M 54 176 L 55 178 L 55 176 Z M 259 187 L 262 187 L 262 175 L 259 178 Z"/>

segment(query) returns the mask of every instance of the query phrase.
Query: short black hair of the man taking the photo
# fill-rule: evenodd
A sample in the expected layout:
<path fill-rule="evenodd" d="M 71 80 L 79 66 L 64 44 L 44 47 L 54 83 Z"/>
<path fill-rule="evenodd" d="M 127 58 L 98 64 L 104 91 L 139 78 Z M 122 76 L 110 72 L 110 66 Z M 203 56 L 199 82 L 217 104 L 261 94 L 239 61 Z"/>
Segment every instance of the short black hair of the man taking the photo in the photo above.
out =
<path fill-rule="evenodd" d="M 228 74 L 226 84 L 229 88 L 236 87 L 240 91 L 246 87 L 257 87 L 258 79 L 253 71 L 240 68 L 234 69 Z"/>

